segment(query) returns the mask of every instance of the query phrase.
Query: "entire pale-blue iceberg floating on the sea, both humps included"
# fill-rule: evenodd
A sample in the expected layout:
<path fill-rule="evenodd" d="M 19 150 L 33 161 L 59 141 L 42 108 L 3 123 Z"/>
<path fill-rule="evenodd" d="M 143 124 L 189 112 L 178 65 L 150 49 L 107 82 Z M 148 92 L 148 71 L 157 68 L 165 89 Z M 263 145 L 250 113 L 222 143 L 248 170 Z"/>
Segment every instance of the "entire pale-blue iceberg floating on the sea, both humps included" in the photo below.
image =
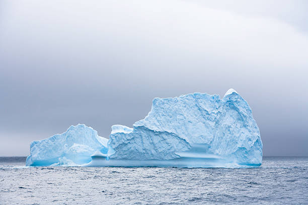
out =
<path fill-rule="evenodd" d="M 247 101 L 189 93 L 152 101 L 133 128 L 113 125 L 109 140 L 85 125 L 34 141 L 27 166 L 249 167 L 262 164 L 262 140 Z"/>

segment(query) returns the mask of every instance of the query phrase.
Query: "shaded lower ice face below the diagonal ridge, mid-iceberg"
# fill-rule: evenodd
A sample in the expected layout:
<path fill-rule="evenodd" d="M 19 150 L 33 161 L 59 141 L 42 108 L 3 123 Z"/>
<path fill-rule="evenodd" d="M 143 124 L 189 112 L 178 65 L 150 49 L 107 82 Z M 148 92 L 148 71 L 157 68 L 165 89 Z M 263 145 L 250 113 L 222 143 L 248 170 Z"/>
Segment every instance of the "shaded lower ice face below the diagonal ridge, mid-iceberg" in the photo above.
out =
<path fill-rule="evenodd" d="M 130 132 L 112 130 L 108 147 L 110 159 L 130 160 L 174 159 L 180 157 L 176 151 L 190 149 L 189 143 L 174 133 L 153 131 L 143 126 L 134 127 Z"/>

